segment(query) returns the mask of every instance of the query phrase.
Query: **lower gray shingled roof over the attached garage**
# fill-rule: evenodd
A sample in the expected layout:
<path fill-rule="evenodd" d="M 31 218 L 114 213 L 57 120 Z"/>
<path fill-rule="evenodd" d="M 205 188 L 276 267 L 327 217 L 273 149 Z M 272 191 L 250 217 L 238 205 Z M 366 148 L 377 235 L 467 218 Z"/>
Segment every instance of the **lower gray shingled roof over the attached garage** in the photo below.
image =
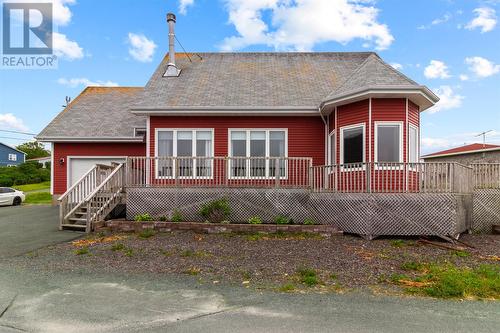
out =
<path fill-rule="evenodd" d="M 134 138 L 134 127 L 146 127 L 145 117 L 130 112 L 143 89 L 88 87 L 37 138 Z"/>

